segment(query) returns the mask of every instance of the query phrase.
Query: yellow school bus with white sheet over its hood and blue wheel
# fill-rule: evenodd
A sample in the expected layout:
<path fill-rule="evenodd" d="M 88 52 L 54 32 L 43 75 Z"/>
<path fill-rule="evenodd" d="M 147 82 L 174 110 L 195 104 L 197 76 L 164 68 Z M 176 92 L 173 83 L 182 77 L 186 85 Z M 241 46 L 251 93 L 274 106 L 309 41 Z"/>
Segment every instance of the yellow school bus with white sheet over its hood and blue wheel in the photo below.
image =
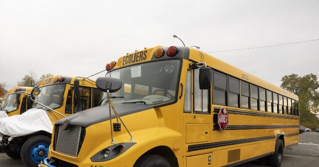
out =
<path fill-rule="evenodd" d="M 30 93 L 22 89 L 17 90 L 19 94 L 28 96 L 33 101 L 32 109 L 27 112 L 33 112 L 36 109 L 44 110 L 46 113 L 44 116 L 48 116 L 48 124 L 52 125 L 65 116 L 98 106 L 102 95 L 101 91 L 96 88 L 94 80 L 62 75 L 47 78 L 41 81 L 38 87 L 31 90 Z M 35 94 L 34 92 L 37 92 L 37 95 L 31 97 L 31 94 Z M 9 97 L 10 95 L 8 101 Z M 39 115 L 39 117 L 43 117 L 43 115 Z M 31 121 L 40 124 L 41 120 L 38 119 L 40 118 L 32 118 Z M 47 127 L 52 127 L 52 125 Z M 22 131 L 21 129 L 27 128 L 21 127 L 19 131 Z M 29 129 L 27 130 L 29 131 Z M 51 131 L 37 130 L 30 134 L 14 137 L 9 142 L 10 136 L 5 136 L 0 141 L 0 152 L 5 152 L 12 159 L 21 158 L 27 167 L 36 167 L 43 159 L 47 158 Z"/>

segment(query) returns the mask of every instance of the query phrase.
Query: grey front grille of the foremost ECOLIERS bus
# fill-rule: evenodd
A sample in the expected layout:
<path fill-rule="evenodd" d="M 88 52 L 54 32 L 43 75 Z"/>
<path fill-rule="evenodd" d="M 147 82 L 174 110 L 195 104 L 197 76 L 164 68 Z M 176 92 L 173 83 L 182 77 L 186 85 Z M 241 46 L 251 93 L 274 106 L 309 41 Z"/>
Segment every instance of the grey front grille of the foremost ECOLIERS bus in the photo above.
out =
<path fill-rule="evenodd" d="M 59 128 L 55 151 L 68 156 L 77 157 L 80 135 L 81 127 L 79 126 L 71 126 L 67 130 Z"/>

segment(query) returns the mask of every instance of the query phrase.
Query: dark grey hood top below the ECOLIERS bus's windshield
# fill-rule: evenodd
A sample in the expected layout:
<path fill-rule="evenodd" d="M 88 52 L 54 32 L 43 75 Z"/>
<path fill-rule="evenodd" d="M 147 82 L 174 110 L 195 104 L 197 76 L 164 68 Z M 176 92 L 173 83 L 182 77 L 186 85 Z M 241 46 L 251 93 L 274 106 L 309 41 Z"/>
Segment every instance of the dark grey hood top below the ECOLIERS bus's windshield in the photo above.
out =
<path fill-rule="evenodd" d="M 141 111 L 153 109 L 152 106 L 146 104 L 114 104 L 115 111 L 120 117 L 138 113 Z M 116 118 L 113 110 L 111 109 L 112 119 Z M 70 125 L 81 126 L 87 128 L 91 125 L 98 124 L 110 120 L 109 105 L 103 105 L 88 110 L 80 111 L 68 117 L 62 118 L 55 123 L 61 125 L 65 120 L 68 120 Z"/>

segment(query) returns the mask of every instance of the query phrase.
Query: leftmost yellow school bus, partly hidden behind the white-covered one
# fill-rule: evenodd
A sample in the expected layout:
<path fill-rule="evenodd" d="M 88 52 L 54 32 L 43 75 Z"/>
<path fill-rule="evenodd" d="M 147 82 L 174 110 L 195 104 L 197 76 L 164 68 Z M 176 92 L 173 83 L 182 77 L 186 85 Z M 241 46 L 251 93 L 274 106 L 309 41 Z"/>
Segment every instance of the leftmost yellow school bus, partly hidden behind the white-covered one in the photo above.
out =
<path fill-rule="evenodd" d="M 32 101 L 30 101 L 27 96 L 17 93 L 18 91 L 25 91 L 31 93 L 33 87 L 14 87 L 8 91 L 6 96 L 6 101 L 4 106 L 2 106 L 2 111 L 5 111 L 8 116 L 19 115 L 30 109 L 32 106 Z"/>

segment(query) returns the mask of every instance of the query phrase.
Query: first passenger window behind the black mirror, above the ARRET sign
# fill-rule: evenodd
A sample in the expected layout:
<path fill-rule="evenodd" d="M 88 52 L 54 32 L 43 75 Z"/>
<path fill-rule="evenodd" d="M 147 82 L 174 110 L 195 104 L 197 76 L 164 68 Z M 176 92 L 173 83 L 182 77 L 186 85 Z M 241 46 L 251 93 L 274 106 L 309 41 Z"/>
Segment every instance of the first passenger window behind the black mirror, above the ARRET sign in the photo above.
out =
<path fill-rule="evenodd" d="M 226 75 L 214 71 L 213 73 L 213 104 L 226 106 L 227 80 Z"/>

